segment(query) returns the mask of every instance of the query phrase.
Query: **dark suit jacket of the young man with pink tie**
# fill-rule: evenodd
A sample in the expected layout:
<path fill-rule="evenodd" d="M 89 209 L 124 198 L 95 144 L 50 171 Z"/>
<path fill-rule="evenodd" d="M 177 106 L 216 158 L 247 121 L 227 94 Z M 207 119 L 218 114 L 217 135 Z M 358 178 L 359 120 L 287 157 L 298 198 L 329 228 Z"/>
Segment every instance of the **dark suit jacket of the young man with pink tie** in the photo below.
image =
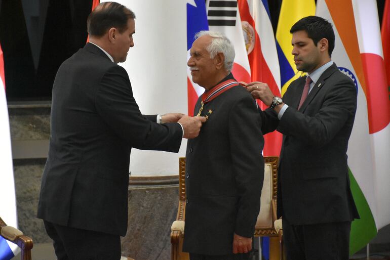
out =
<path fill-rule="evenodd" d="M 359 218 L 349 188 L 347 146 L 354 124 L 357 91 L 333 64 L 321 75 L 297 111 L 305 77 L 291 82 L 281 120 L 267 109 L 263 133 L 283 134 L 279 164 L 278 215 L 306 225 Z"/>

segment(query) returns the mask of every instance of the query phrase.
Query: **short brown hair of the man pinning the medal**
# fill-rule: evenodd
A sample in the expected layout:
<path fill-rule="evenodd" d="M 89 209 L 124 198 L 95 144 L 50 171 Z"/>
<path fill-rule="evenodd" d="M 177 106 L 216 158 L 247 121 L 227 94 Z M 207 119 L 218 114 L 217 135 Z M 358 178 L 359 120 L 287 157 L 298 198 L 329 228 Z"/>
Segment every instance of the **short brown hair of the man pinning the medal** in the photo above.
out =
<path fill-rule="evenodd" d="M 110 28 L 116 28 L 122 33 L 127 29 L 129 19 L 135 19 L 135 14 L 125 6 L 115 2 L 101 3 L 88 16 L 88 33 L 98 38 Z"/>

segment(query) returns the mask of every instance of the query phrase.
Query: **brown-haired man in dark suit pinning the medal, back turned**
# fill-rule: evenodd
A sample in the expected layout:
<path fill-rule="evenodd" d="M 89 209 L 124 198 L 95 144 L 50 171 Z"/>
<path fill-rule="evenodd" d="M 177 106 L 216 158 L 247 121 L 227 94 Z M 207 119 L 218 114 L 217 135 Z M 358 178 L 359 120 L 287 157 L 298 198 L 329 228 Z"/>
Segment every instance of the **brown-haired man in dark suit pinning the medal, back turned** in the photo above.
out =
<path fill-rule="evenodd" d="M 54 81 L 37 215 L 59 260 L 119 260 L 131 148 L 178 152 L 182 137 L 196 137 L 206 120 L 141 114 L 116 64 L 134 46 L 134 19 L 123 5 L 100 4 L 88 17 L 90 43 L 64 61 Z"/>

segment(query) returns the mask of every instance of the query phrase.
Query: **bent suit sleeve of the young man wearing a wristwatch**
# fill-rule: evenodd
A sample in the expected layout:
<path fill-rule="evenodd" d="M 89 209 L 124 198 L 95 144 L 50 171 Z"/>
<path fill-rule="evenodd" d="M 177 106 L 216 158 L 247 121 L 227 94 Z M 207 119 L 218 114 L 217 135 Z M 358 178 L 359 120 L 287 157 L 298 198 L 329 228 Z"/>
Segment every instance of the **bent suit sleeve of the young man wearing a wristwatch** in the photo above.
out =
<path fill-rule="evenodd" d="M 332 86 L 321 109 L 314 116 L 289 106 L 280 120 L 278 131 L 306 145 L 322 147 L 335 137 L 348 118 L 355 115 L 356 102 L 354 83 L 341 79 Z"/>

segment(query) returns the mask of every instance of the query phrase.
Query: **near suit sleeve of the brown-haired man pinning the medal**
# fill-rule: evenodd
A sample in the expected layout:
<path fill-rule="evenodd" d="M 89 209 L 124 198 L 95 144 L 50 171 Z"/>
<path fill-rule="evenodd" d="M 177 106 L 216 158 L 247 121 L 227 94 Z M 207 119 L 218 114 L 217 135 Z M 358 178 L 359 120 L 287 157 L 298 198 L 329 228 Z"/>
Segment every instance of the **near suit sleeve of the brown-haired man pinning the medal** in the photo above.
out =
<path fill-rule="evenodd" d="M 112 131 L 131 147 L 179 151 L 182 139 L 180 124 L 158 124 L 143 116 L 124 68 L 114 66 L 103 75 L 95 95 L 95 106 Z"/>

